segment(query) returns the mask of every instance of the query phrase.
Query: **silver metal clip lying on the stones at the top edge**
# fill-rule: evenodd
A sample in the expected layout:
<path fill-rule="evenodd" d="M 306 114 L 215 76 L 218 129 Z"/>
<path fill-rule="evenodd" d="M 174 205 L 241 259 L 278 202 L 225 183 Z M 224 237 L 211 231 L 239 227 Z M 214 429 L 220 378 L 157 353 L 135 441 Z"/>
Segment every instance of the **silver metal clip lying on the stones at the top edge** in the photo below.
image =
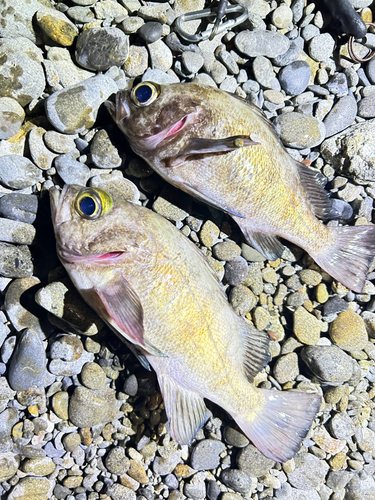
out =
<path fill-rule="evenodd" d="M 229 5 L 229 7 L 227 7 L 227 4 L 228 0 L 221 0 L 217 9 L 204 9 L 197 10 L 195 12 L 188 12 L 187 14 L 182 14 L 182 16 L 179 16 L 175 21 L 177 33 L 187 42 L 197 43 L 202 42 L 203 40 L 207 40 L 208 38 L 212 40 L 215 35 L 218 35 L 219 33 L 222 33 L 225 30 L 229 30 L 234 26 L 237 26 L 238 24 L 246 21 L 248 17 L 246 7 L 243 7 L 242 5 Z M 220 24 L 220 21 L 224 16 L 236 12 L 240 13 L 238 17 L 235 17 L 234 19 L 228 19 L 228 21 Z M 214 27 L 209 30 L 202 31 L 202 33 L 196 33 L 195 35 L 189 35 L 189 33 L 186 33 L 186 31 L 182 29 L 182 24 L 186 23 L 187 21 L 194 21 L 196 19 L 210 17 L 215 14 L 216 19 Z"/>

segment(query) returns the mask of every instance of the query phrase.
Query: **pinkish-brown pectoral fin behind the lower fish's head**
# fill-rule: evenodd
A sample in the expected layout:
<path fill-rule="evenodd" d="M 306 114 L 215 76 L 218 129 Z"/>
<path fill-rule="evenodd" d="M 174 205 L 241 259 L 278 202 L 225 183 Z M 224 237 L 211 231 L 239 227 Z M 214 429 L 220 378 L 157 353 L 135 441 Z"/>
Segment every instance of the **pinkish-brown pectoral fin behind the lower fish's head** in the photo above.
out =
<path fill-rule="evenodd" d="M 163 353 L 144 338 L 141 301 L 121 275 L 116 274 L 105 286 L 81 291 L 83 298 L 115 332 L 154 356 Z"/>

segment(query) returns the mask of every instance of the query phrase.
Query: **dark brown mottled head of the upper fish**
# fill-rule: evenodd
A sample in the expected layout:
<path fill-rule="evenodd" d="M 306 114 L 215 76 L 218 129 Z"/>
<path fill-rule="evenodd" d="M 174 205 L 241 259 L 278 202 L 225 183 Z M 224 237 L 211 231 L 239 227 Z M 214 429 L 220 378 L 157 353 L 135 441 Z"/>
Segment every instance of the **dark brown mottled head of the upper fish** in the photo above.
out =
<path fill-rule="evenodd" d="M 209 89 L 194 83 L 159 85 L 141 82 L 116 94 L 107 108 L 133 151 L 153 164 L 171 158 L 208 123 Z"/>

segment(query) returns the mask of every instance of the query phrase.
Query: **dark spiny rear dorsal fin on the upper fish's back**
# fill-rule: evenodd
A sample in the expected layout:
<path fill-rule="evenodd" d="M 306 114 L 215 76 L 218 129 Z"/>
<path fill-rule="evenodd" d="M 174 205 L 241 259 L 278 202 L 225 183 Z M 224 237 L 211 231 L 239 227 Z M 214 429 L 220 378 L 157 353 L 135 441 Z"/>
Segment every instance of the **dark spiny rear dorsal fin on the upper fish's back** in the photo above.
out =
<path fill-rule="evenodd" d="M 307 167 L 299 161 L 295 161 L 295 164 L 314 215 L 321 218 L 334 218 L 335 214 L 332 211 L 332 204 L 328 193 L 319 180 L 319 170 Z"/>

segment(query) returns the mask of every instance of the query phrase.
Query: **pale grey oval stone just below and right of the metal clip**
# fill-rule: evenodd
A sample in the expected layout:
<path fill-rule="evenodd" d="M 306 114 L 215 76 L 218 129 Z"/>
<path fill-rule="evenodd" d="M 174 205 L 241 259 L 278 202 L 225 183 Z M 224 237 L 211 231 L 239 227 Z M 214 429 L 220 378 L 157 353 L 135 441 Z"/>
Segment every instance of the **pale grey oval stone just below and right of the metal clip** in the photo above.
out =
<path fill-rule="evenodd" d="M 248 57 L 277 57 L 289 49 L 290 41 L 274 31 L 243 30 L 234 38 L 237 49 Z"/>

